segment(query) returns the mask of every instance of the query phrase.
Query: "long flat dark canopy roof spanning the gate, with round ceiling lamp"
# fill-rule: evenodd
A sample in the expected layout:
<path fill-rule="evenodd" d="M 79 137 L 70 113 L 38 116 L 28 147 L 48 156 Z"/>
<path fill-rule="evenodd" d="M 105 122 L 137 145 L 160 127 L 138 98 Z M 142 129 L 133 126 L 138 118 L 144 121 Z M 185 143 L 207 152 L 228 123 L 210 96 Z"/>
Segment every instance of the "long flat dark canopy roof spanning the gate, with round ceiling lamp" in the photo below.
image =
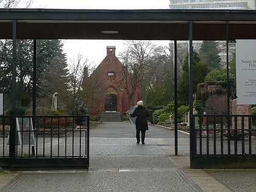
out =
<path fill-rule="evenodd" d="M 227 22 L 228 40 L 256 39 L 256 10 L 0 9 L 0 39 L 13 20 L 19 39 L 188 40 L 189 21 L 193 40 L 227 40 Z"/>

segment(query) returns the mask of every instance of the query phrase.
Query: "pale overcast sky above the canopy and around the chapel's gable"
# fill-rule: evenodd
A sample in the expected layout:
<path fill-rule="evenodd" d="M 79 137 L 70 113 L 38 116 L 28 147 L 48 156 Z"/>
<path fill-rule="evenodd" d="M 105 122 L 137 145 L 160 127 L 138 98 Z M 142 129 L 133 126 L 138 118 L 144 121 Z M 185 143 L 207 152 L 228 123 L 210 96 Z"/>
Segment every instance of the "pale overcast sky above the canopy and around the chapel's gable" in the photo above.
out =
<path fill-rule="evenodd" d="M 21 0 L 24 1 L 25 0 Z M 169 0 L 34 0 L 30 8 L 40 9 L 169 9 Z M 63 40 L 67 59 L 74 60 L 80 52 L 98 66 L 107 54 L 107 46 L 116 46 L 116 55 L 124 50 L 121 40 Z M 169 41 L 153 41 L 168 45 Z"/>

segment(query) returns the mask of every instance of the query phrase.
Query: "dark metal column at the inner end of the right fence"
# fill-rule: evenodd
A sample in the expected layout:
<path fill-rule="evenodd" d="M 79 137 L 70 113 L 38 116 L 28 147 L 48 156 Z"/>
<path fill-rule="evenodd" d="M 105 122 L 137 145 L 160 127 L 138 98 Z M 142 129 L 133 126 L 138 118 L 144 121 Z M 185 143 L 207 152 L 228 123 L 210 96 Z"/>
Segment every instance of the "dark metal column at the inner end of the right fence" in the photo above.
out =
<path fill-rule="evenodd" d="M 189 48 L 188 48 L 188 71 L 189 71 L 189 104 L 190 104 L 190 167 L 193 168 L 194 157 L 194 124 L 193 124 L 193 21 L 189 21 Z"/>

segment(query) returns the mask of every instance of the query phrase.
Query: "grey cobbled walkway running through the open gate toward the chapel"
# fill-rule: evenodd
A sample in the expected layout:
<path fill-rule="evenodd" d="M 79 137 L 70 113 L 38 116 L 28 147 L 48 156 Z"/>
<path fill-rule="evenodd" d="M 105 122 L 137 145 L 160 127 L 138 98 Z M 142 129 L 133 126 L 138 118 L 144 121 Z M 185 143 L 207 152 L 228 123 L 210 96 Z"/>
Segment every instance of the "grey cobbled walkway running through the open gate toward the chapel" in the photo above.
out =
<path fill-rule="evenodd" d="M 256 169 L 190 169 L 189 137 L 149 126 L 136 144 L 129 123 L 90 130 L 88 171 L 0 172 L 0 191 L 256 191 Z"/>

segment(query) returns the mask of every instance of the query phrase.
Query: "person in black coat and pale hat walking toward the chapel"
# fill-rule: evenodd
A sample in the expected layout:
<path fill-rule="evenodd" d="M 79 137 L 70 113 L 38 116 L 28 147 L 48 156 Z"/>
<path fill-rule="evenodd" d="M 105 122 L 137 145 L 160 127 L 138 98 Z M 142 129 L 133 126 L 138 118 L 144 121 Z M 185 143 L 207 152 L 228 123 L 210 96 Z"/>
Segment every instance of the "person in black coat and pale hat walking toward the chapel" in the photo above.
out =
<path fill-rule="evenodd" d="M 149 130 L 148 127 L 148 117 L 149 113 L 146 107 L 143 107 L 143 101 L 137 102 L 138 107 L 135 108 L 132 113 L 132 117 L 136 117 L 135 126 L 136 126 L 136 138 L 137 144 L 140 144 L 140 132 L 141 132 L 141 143 L 145 144 L 145 133 L 146 130 Z"/>

